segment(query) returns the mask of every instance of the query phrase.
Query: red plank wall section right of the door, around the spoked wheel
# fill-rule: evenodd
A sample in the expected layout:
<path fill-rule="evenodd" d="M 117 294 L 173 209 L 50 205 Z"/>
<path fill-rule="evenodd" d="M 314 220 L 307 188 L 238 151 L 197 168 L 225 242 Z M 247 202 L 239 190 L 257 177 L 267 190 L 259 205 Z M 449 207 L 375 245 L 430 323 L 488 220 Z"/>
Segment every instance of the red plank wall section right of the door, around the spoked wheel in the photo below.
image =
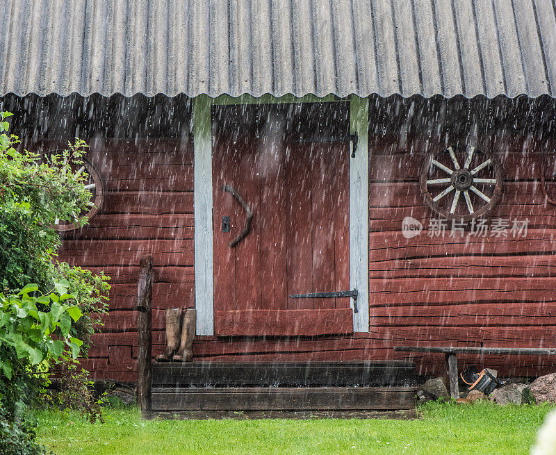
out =
<path fill-rule="evenodd" d="M 541 191 L 541 152 L 554 150 L 531 136 L 498 138 L 492 144 L 504 173 L 504 194 L 489 220 L 529 220 L 525 237 L 464 234 L 432 238 L 438 215 L 423 203 L 418 179 L 430 147 L 422 140 L 400 144 L 373 138 L 369 181 L 369 276 L 371 333 L 382 349 L 406 345 L 550 347 L 556 338 L 556 207 Z M 548 170 L 550 178 L 551 171 Z M 555 188 L 556 185 L 550 185 Z M 406 216 L 423 224 L 414 238 L 402 235 Z M 511 224 L 511 221 L 510 221 Z M 380 343 L 379 343 L 380 344 Z M 390 358 L 389 352 L 384 354 Z M 384 355 L 383 354 L 383 355 Z M 407 355 L 418 373 L 438 374 L 443 356 Z M 507 375 L 553 371 L 548 357 L 462 356 Z"/>

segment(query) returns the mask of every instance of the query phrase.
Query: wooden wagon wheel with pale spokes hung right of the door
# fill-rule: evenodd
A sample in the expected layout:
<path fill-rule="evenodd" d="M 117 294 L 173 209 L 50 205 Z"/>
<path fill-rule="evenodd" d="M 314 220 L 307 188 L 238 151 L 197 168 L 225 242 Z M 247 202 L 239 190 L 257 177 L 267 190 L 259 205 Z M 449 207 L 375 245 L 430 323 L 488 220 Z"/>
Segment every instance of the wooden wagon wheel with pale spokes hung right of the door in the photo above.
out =
<path fill-rule="evenodd" d="M 444 218 L 468 221 L 489 213 L 502 195 L 496 157 L 473 146 L 430 153 L 420 175 L 425 204 Z"/>

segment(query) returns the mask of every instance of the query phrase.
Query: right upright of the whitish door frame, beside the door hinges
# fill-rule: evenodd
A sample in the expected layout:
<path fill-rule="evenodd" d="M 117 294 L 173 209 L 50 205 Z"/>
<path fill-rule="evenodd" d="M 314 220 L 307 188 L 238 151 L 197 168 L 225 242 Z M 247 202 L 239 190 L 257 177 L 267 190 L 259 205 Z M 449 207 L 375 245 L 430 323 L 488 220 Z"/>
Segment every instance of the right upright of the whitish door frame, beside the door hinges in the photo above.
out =
<path fill-rule="evenodd" d="M 350 286 L 359 291 L 358 312 L 353 314 L 354 332 L 369 331 L 368 128 L 368 99 L 352 95 L 350 130 L 358 137 L 355 156 L 350 158 Z"/>

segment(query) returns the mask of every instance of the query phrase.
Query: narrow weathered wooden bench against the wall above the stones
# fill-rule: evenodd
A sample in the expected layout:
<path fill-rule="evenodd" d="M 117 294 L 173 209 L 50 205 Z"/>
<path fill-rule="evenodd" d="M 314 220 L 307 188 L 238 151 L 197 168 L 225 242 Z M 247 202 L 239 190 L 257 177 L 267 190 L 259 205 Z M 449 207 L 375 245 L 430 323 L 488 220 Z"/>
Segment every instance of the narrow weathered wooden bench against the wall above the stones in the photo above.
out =
<path fill-rule="evenodd" d="M 491 356 L 554 356 L 556 348 L 551 347 L 444 347 L 444 346 L 395 346 L 394 351 L 429 352 L 445 354 L 446 369 L 450 380 L 450 396 L 459 398 L 457 376 L 457 354 L 479 354 Z"/>

